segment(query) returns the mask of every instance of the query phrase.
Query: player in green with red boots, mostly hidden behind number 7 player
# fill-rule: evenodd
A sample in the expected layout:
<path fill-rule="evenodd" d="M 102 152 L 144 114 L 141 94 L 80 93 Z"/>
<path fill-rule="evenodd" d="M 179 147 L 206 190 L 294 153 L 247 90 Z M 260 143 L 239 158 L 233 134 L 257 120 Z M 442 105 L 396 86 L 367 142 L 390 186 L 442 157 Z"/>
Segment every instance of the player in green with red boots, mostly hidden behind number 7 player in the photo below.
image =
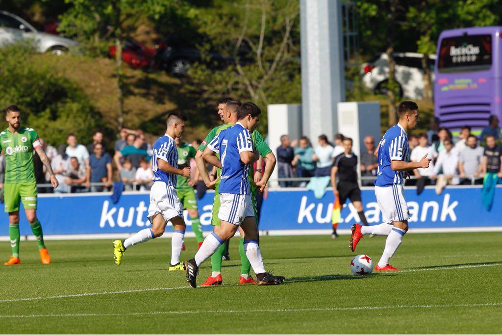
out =
<path fill-rule="evenodd" d="M 205 169 L 205 161 L 202 158 L 202 152 L 204 151 L 205 147 L 207 144 L 218 134 L 220 131 L 223 129 L 226 129 L 228 127 L 233 126 L 237 122 L 237 108 L 241 105 L 239 101 L 236 100 L 230 100 L 227 101 L 225 104 L 225 107 L 223 109 L 223 119 L 225 124 L 221 126 L 217 126 L 209 132 L 209 134 L 206 136 L 202 144 L 199 146 L 197 154 L 195 156 L 195 161 L 197 163 L 197 168 L 199 170 L 199 173 L 202 176 L 202 179 L 206 183 L 208 187 L 212 187 L 214 185 L 215 187 L 215 194 L 214 194 L 214 201 L 213 201 L 213 208 L 212 208 L 212 218 L 211 218 L 211 224 L 214 227 L 214 230 L 216 231 L 219 226 L 220 226 L 220 220 L 218 218 L 218 211 L 220 207 L 220 198 L 218 194 L 218 185 L 219 185 L 219 179 L 216 179 L 214 181 L 211 181 L 209 179 L 209 176 L 207 174 L 207 171 Z M 257 203 L 256 203 L 256 195 L 258 192 L 261 192 L 265 189 L 265 186 L 267 185 L 267 182 L 270 178 L 270 175 L 272 174 L 272 171 L 274 170 L 275 164 L 276 164 L 276 157 L 274 156 L 274 153 L 272 150 L 269 148 L 269 146 L 265 143 L 265 140 L 263 139 L 263 136 L 258 132 L 254 131 L 252 134 L 252 140 L 253 140 L 253 145 L 255 149 L 260 153 L 260 156 L 265 159 L 265 171 L 263 173 L 263 176 L 261 179 L 255 178 L 255 173 L 253 172 L 253 169 L 249 169 L 249 181 L 250 181 L 250 186 L 251 186 L 251 193 L 252 193 L 252 203 L 253 203 L 253 208 L 255 210 L 255 216 L 258 218 L 258 210 L 257 210 Z M 221 170 L 217 170 L 217 176 L 221 173 Z M 258 177 L 258 176 L 257 176 Z M 250 269 L 251 269 L 251 264 L 249 263 L 245 252 L 244 252 L 244 238 L 243 238 L 243 232 L 239 228 L 239 233 L 241 236 L 240 243 L 239 243 L 239 254 L 240 254 L 240 262 L 241 262 L 241 274 L 239 278 L 239 284 L 254 284 L 256 281 L 249 275 Z M 211 286 L 211 285 L 221 285 L 223 280 L 221 277 L 221 257 L 225 251 L 225 245 L 222 244 L 220 248 L 211 256 L 211 267 L 212 267 L 212 273 L 207 277 L 206 282 L 201 284 L 201 286 Z"/>

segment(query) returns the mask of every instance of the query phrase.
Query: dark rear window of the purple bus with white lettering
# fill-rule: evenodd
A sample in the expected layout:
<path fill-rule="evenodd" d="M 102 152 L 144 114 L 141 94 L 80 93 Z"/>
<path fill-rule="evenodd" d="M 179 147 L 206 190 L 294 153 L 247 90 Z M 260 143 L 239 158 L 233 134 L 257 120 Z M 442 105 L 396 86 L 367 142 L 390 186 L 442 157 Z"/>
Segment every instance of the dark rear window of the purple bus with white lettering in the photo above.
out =
<path fill-rule="evenodd" d="M 464 35 L 441 41 L 439 72 L 487 70 L 490 67 L 491 35 Z"/>

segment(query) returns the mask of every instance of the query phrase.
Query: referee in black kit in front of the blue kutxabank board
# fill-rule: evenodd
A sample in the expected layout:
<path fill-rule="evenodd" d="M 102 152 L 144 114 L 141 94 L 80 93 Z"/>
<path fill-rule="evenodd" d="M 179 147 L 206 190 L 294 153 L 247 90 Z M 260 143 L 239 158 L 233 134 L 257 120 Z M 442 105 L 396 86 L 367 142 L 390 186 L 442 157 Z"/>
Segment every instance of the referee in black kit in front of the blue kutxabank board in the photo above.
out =
<path fill-rule="evenodd" d="M 368 221 L 362 210 L 361 190 L 357 183 L 357 156 L 352 152 L 352 139 L 343 139 L 345 152 L 335 157 L 331 166 L 331 186 L 333 194 L 338 197 L 340 206 L 343 206 L 347 198 L 352 201 L 354 208 L 359 214 L 359 218 L 364 226 L 368 226 Z M 338 185 L 336 179 L 338 174 Z"/>

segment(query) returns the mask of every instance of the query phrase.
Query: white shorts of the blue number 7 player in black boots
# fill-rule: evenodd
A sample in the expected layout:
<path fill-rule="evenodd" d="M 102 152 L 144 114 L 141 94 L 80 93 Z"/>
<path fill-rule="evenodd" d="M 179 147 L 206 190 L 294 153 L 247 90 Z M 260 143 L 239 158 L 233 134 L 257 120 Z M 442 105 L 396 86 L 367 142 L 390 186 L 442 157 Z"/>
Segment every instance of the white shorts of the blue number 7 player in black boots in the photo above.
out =
<path fill-rule="evenodd" d="M 248 194 L 220 193 L 218 218 L 239 226 L 247 216 L 255 216 L 255 210 Z"/>

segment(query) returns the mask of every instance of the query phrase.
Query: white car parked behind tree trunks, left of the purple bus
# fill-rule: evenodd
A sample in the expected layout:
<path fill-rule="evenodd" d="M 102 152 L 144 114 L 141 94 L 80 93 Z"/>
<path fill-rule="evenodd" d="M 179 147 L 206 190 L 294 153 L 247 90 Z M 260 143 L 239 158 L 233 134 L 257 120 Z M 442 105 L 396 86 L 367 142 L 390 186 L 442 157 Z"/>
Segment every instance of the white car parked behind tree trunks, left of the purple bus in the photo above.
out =
<path fill-rule="evenodd" d="M 421 100 L 424 97 L 423 54 L 414 52 L 393 53 L 396 61 L 396 80 L 400 85 L 400 96 Z M 389 79 L 388 56 L 382 53 L 361 65 L 360 72 L 364 86 L 377 94 L 386 94 L 385 85 Z M 429 55 L 428 66 L 431 70 L 431 85 L 434 84 L 434 64 L 436 55 Z M 433 91 L 433 87 L 431 87 Z"/>

